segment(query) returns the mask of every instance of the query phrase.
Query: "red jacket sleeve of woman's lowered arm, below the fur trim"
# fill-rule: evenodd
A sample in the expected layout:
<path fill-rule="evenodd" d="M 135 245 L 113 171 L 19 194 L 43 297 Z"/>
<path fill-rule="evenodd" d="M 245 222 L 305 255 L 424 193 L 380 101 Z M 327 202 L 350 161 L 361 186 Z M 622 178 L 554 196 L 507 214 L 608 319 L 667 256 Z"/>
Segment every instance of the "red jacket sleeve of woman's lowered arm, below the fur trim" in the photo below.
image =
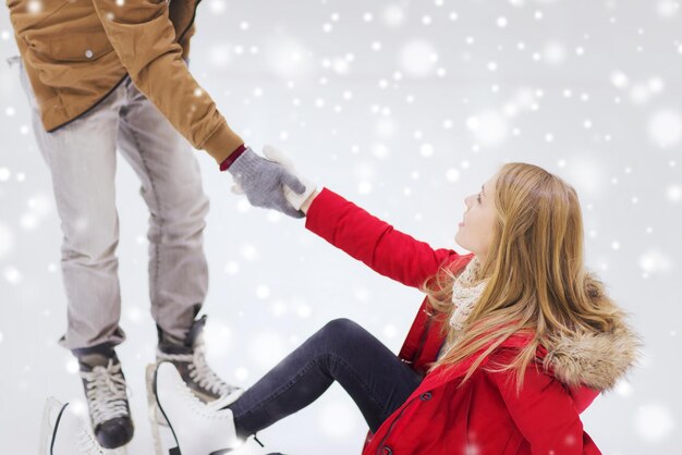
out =
<path fill-rule="evenodd" d="M 510 357 L 502 356 L 501 359 L 508 361 Z M 509 380 L 510 372 L 488 372 L 488 377 L 500 391 L 533 455 L 600 454 L 583 431 L 571 395 L 558 380 L 529 366 L 521 392 L 516 394 L 515 382 Z"/>

